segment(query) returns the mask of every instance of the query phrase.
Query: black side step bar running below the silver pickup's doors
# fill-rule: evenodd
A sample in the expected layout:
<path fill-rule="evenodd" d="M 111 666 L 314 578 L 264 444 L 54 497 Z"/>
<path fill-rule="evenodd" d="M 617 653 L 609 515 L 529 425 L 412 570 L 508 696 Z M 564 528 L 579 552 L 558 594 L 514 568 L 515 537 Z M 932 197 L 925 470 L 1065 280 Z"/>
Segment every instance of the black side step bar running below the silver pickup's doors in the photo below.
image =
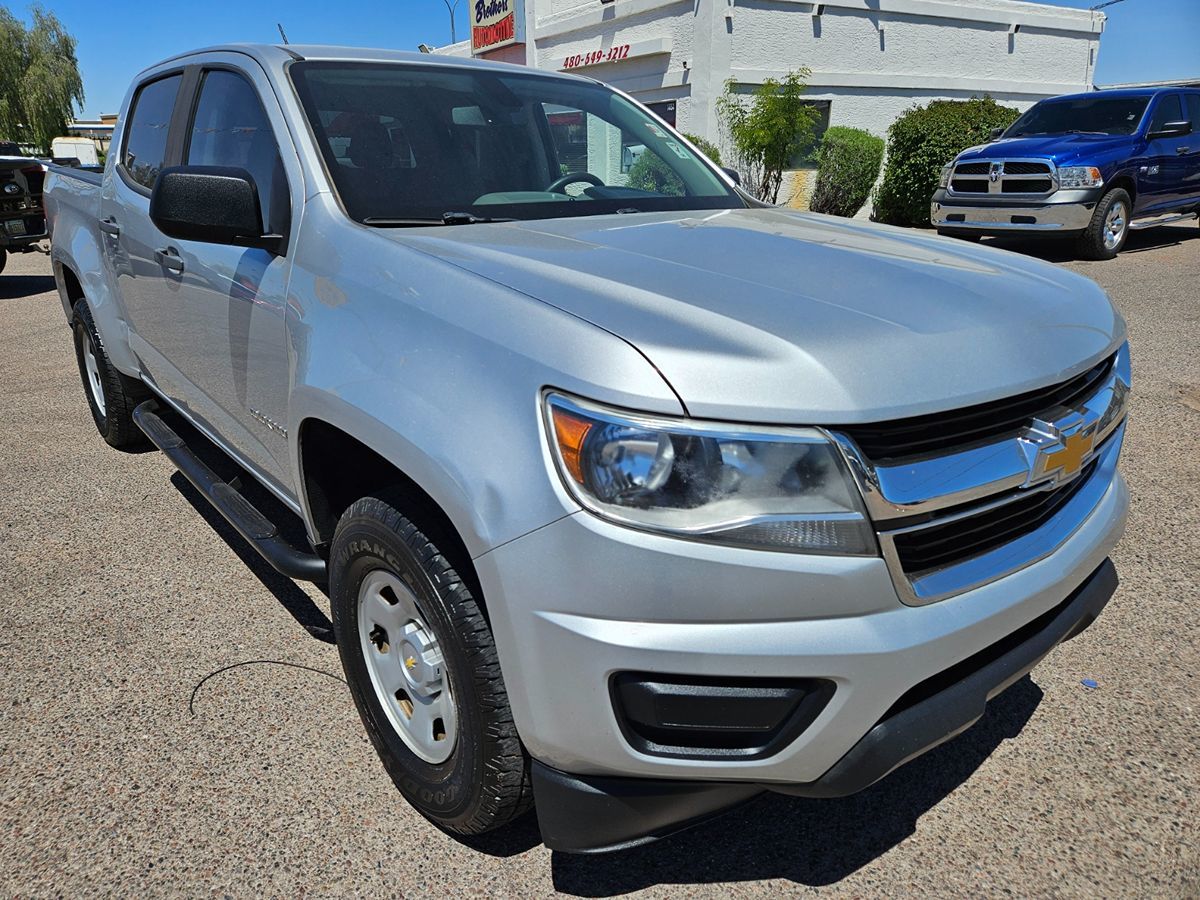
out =
<path fill-rule="evenodd" d="M 280 529 L 259 512 L 238 490 L 222 481 L 184 439 L 158 416 L 158 404 L 152 400 L 138 404 L 133 421 L 155 446 L 175 463 L 196 490 L 204 494 L 217 512 L 224 516 L 238 534 L 250 541 L 263 559 L 282 575 L 298 581 L 326 581 L 325 560 L 316 553 L 296 550 L 280 536 Z"/>

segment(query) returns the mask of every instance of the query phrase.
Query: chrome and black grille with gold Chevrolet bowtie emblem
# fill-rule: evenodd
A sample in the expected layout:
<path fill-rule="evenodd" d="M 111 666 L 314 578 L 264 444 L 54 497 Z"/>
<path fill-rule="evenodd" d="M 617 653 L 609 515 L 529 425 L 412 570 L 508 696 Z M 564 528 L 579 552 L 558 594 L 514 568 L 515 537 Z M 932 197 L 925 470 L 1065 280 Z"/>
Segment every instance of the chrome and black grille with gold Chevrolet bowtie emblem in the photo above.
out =
<path fill-rule="evenodd" d="M 1015 397 L 829 431 L 900 599 L 923 605 L 1049 556 L 1116 476 L 1129 350 Z"/>

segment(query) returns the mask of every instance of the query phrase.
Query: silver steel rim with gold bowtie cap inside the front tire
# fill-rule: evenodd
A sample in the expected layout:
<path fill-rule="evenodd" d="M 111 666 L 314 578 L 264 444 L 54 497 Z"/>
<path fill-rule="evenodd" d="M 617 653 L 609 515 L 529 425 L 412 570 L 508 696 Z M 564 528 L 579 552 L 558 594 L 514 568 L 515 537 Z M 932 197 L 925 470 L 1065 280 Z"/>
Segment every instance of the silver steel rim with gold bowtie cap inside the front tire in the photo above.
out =
<path fill-rule="evenodd" d="M 359 588 L 359 640 L 376 697 L 409 750 L 450 758 L 458 719 L 437 635 L 408 587 L 376 569 Z"/>

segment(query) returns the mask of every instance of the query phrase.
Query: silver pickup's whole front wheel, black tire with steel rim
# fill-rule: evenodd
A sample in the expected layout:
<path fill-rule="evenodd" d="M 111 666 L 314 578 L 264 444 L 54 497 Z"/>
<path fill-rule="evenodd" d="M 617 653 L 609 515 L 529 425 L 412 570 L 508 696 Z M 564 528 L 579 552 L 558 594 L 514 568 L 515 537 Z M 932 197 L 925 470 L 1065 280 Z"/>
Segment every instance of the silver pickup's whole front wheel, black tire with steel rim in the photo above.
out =
<path fill-rule="evenodd" d="M 480 834 L 532 808 L 529 758 L 479 602 L 402 505 L 398 491 L 383 492 L 355 502 L 337 523 L 329 564 L 337 650 L 400 792 L 439 828 Z M 439 673 L 436 690 L 430 672 Z"/>

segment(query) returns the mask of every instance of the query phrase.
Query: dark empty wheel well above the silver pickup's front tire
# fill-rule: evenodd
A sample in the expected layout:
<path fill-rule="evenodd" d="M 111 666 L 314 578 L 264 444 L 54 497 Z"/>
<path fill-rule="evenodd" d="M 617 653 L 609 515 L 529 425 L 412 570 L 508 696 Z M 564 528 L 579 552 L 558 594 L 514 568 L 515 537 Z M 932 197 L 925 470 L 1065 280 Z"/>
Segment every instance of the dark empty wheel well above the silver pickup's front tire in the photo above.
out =
<path fill-rule="evenodd" d="M 398 487 L 404 496 L 401 510 L 438 545 L 482 605 L 475 565 L 458 529 L 437 500 L 413 479 L 359 439 L 328 422 L 308 419 L 300 426 L 300 468 L 308 499 L 314 535 L 328 546 L 342 514 L 355 500 Z"/>

